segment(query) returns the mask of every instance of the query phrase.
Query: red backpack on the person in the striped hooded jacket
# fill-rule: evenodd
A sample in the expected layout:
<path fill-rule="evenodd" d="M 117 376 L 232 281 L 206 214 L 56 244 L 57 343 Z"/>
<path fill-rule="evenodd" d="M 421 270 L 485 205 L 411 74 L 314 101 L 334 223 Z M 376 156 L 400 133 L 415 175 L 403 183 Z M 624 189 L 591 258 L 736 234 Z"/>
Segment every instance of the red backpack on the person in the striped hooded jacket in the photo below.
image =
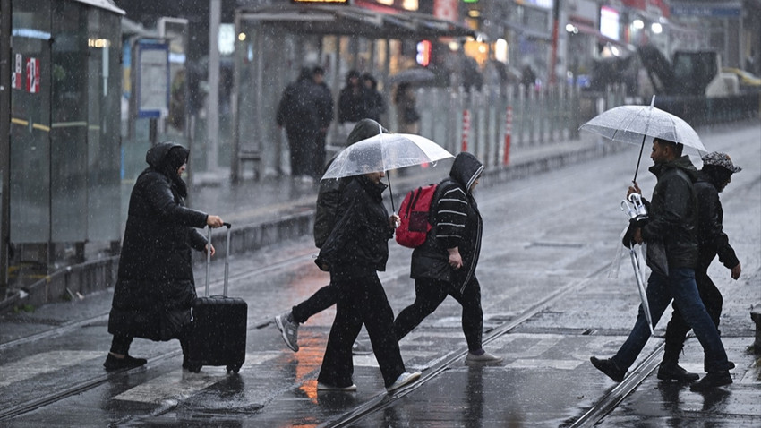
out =
<path fill-rule="evenodd" d="M 433 195 L 438 184 L 429 184 L 410 191 L 399 206 L 399 227 L 396 239 L 399 245 L 416 248 L 425 242 L 425 236 L 431 230 L 429 216 Z"/>

